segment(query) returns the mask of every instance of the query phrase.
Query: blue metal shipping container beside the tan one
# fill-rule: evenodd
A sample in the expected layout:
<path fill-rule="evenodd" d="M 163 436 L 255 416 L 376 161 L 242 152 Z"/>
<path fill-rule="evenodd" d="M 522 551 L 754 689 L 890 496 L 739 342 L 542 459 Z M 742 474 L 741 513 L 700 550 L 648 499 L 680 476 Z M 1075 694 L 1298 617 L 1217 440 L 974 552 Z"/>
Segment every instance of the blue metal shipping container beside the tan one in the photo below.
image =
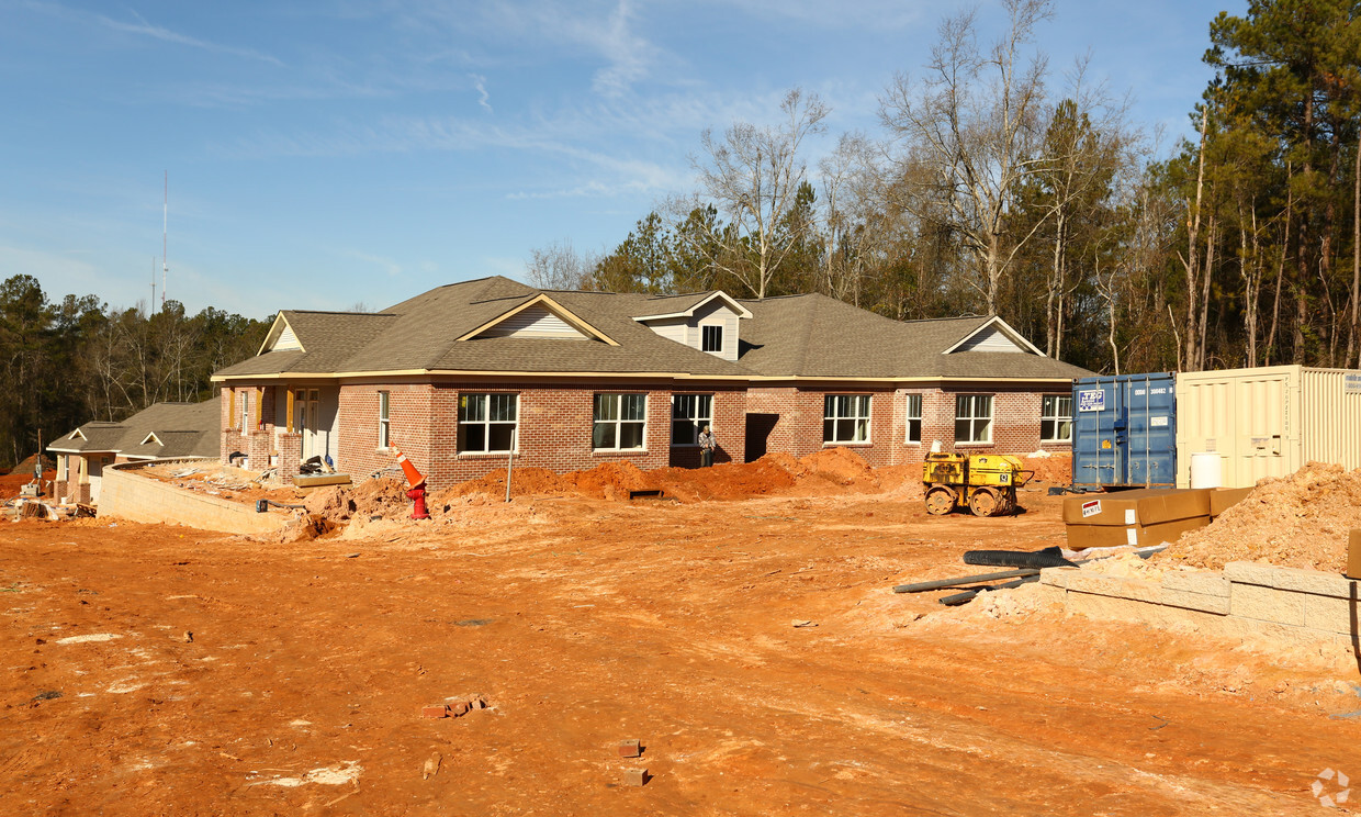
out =
<path fill-rule="evenodd" d="M 1072 487 L 1176 487 L 1176 376 L 1072 384 Z"/>

